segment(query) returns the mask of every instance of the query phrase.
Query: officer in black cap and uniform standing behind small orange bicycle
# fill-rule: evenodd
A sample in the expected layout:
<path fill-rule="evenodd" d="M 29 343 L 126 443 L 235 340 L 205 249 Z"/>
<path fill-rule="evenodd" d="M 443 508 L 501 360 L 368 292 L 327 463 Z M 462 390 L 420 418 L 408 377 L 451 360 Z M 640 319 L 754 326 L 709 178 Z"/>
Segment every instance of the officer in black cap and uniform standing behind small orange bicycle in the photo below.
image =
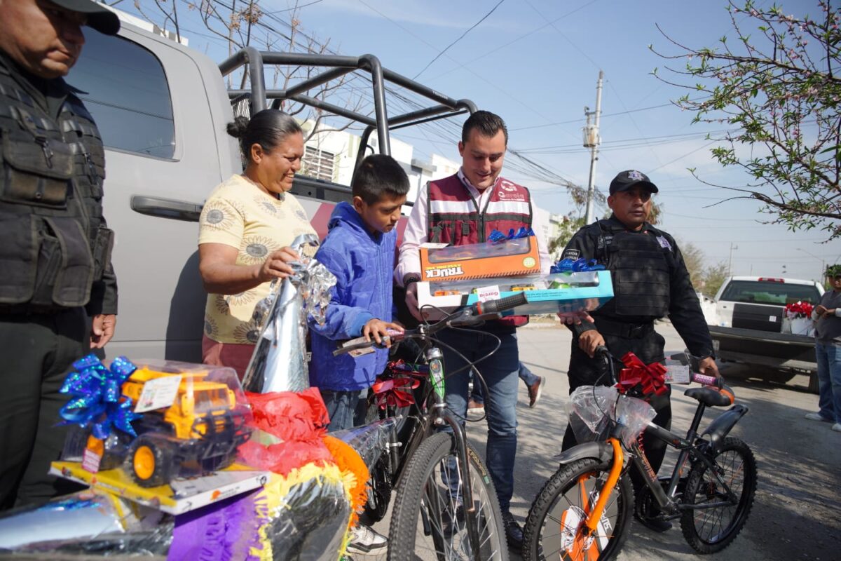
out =
<path fill-rule="evenodd" d="M 701 373 L 718 376 L 710 331 L 701 312 L 701 304 L 692 288 L 674 238 L 648 224 L 651 195 L 658 188 L 643 173 L 621 172 L 611 181 L 607 204 L 613 211 L 607 220 L 598 220 L 575 233 L 563 250 L 563 258 L 596 259 L 611 272 L 613 298 L 595 310 L 593 321 L 571 325 L 573 347 L 569 359 L 569 391 L 582 385 L 607 384 L 600 378 L 606 365 L 594 357 L 596 347 L 606 345 L 614 357 L 633 352 L 643 363 L 664 361 L 663 336 L 654 331 L 654 320 L 666 315 L 683 338 L 686 347 L 699 357 Z M 654 422 L 669 429 L 672 410 L 667 393 L 654 396 L 651 405 L 657 411 Z M 563 449 L 575 444 L 567 426 Z M 646 456 L 655 472 L 663 463 L 666 445 L 643 436 Z M 632 471 L 634 489 L 639 495 L 642 476 Z M 641 520 L 647 527 L 663 532 L 668 521 Z"/>

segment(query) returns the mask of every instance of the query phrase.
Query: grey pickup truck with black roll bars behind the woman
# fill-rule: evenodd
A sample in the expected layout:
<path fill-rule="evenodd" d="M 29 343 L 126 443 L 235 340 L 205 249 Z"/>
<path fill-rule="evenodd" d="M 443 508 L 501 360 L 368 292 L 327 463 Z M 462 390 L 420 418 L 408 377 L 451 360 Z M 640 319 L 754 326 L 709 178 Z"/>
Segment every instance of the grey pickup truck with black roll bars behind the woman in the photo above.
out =
<path fill-rule="evenodd" d="M 362 124 L 357 165 L 375 132 L 389 154 L 389 128 L 472 113 L 467 99 L 452 99 L 380 66 L 375 56 L 261 52 L 252 47 L 220 64 L 175 40 L 128 23 L 117 36 L 86 28 L 84 53 L 66 81 L 93 114 L 106 152 L 104 214 L 116 232 L 113 262 L 119 314 L 110 356 L 201 361 L 206 293 L 198 275 L 198 216 L 211 190 L 242 171 L 236 140 L 225 125 L 237 112 L 254 114 L 283 99 L 314 106 Z M 151 25 L 149 26 L 151 28 Z M 267 89 L 264 68 L 314 67 L 305 81 Z M 249 87 L 229 91 L 225 76 L 246 67 Z M 307 95 L 310 88 L 356 72 L 368 81 L 370 113 L 337 107 Z M 232 81 L 241 83 L 240 77 Z M 271 86 L 269 86 L 271 87 Z M 395 94 L 396 92 L 396 94 Z M 421 99 L 404 114 L 387 114 L 394 95 Z M 426 106 L 426 102 L 430 102 Z M 394 103 L 405 107 L 406 103 Z M 373 140 L 372 140 L 373 144 Z M 368 152 L 370 153 L 370 152 Z M 323 238 L 333 206 L 350 188 L 298 176 L 292 191 Z M 405 227 L 405 220 L 403 227 Z"/>

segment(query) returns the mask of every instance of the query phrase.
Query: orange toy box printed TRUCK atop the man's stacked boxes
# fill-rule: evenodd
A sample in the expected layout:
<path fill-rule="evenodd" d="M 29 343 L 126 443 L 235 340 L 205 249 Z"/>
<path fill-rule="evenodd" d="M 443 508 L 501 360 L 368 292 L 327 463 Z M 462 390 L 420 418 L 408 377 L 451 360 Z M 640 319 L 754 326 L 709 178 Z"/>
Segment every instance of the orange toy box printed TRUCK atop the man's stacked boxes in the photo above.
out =
<path fill-rule="evenodd" d="M 535 273 L 540 273 L 540 255 L 535 236 L 496 244 L 421 245 L 421 280 L 430 283 Z"/>

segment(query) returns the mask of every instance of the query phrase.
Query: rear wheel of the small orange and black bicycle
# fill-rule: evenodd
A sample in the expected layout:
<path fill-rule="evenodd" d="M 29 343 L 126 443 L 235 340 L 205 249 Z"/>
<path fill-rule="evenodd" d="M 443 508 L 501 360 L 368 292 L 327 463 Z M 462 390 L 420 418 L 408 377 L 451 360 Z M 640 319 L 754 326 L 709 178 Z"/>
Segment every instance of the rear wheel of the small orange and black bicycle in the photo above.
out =
<path fill-rule="evenodd" d="M 721 470 L 722 479 L 730 490 L 738 496 L 738 503 L 683 512 L 680 529 L 686 542 L 699 553 L 717 553 L 733 542 L 748 521 L 756 492 L 756 459 L 747 444 L 738 438 L 727 437 L 721 451 L 711 459 Z M 683 503 L 699 505 L 706 500 L 724 498 L 720 484 L 711 476 L 706 464 L 694 463 L 686 479 Z M 727 514 L 729 520 L 723 524 L 722 518 Z"/>

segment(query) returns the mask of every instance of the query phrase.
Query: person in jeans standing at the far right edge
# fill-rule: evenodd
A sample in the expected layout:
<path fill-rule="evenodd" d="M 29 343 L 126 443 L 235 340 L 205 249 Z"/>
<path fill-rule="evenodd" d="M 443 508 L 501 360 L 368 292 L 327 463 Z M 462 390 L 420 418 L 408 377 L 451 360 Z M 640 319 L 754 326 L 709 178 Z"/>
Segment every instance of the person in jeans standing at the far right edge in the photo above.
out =
<path fill-rule="evenodd" d="M 806 418 L 833 423 L 833 431 L 841 432 L 841 265 L 827 267 L 826 276 L 832 290 L 823 293 L 812 310 L 818 411 Z"/>

